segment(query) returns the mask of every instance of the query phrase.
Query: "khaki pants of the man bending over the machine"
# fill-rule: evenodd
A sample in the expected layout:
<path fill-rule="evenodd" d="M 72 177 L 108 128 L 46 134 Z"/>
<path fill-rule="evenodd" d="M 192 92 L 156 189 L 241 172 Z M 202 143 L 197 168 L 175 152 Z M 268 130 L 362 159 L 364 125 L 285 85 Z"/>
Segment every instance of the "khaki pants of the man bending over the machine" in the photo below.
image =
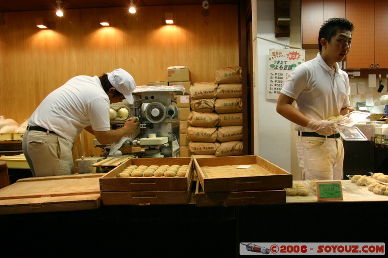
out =
<path fill-rule="evenodd" d="M 26 131 L 22 146 L 34 177 L 74 174 L 71 141 L 57 134 Z"/>

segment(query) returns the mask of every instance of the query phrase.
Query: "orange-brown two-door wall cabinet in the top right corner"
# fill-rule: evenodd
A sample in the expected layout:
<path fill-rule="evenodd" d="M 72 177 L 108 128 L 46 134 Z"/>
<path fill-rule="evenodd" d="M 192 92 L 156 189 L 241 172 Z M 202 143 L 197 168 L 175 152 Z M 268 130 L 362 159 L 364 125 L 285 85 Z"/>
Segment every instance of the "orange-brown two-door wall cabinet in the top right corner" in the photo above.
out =
<path fill-rule="evenodd" d="M 388 68 L 387 0 L 347 0 L 346 18 L 355 26 L 346 68 Z"/>

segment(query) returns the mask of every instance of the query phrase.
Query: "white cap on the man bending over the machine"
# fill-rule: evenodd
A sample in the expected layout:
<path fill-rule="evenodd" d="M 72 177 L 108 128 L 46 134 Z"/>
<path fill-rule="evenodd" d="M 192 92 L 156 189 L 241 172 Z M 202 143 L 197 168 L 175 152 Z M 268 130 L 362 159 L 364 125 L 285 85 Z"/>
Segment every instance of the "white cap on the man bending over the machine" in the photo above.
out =
<path fill-rule="evenodd" d="M 107 73 L 109 82 L 113 87 L 124 95 L 130 105 L 133 104 L 132 92 L 135 90 L 136 83 L 133 77 L 124 69 L 114 69 L 111 73 Z"/>

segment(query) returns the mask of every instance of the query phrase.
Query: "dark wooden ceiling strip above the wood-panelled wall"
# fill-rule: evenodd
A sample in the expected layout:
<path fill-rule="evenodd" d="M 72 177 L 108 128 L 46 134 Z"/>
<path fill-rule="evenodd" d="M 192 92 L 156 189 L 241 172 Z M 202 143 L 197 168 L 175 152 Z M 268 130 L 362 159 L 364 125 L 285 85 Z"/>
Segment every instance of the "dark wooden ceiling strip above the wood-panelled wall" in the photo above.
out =
<path fill-rule="evenodd" d="M 237 4 L 238 0 L 208 0 L 213 4 Z M 200 5 L 202 0 L 133 0 L 136 6 L 153 5 Z M 0 13 L 50 11 L 57 7 L 56 0 L 0 0 Z M 61 7 L 65 9 L 84 8 L 128 8 L 130 0 L 62 0 Z"/>

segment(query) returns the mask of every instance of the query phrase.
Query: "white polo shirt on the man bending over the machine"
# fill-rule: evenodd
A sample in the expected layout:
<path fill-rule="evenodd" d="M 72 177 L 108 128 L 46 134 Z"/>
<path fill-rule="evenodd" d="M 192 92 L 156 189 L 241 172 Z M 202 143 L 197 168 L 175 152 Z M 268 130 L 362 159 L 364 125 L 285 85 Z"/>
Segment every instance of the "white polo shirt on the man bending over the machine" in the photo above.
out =
<path fill-rule="evenodd" d="M 44 127 L 74 142 L 86 126 L 110 130 L 109 105 L 98 76 L 76 76 L 40 103 L 28 125 Z"/>

